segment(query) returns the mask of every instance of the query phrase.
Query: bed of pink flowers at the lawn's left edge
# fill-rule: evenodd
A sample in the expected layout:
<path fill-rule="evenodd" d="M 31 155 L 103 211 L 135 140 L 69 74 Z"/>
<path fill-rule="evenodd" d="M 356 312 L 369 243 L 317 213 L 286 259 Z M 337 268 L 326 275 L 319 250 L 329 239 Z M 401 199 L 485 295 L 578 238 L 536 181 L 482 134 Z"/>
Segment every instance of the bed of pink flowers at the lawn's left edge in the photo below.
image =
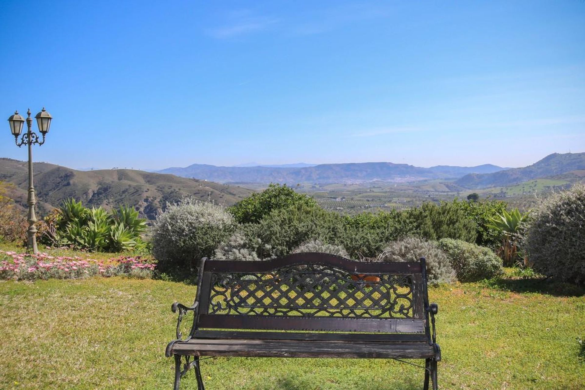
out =
<path fill-rule="evenodd" d="M 154 264 L 137 257 L 116 257 L 106 261 L 78 256 L 36 255 L 0 250 L 0 279 L 77 279 L 90 276 L 126 275 L 150 278 Z"/>

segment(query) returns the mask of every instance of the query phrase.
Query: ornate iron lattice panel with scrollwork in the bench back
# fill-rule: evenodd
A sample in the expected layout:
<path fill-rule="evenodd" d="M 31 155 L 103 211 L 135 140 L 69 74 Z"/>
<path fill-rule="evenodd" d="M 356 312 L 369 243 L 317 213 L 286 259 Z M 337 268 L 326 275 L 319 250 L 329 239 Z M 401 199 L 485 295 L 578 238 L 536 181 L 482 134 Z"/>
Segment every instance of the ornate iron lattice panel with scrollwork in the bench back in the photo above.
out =
<path fill-rule="evenodd" d="M 363 275 L 331 265 L 211 272 L 210 315 L 414 318 L 411 274 Z"/>

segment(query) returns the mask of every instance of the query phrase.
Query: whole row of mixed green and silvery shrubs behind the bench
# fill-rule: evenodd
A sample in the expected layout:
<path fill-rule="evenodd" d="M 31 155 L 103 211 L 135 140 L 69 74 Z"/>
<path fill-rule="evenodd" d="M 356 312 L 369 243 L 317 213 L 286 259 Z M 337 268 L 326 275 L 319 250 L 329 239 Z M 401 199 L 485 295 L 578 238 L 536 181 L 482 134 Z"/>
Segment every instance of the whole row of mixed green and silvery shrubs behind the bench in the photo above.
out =
<path fill-rule="evenodd" d="M 189 199 L 168 206 L 153 228 L 153 254 L 160 270 L 192 274 L 201 257 L 258 260 L 299 251 L 323 251 L 377 261 L 417 261 L 425 256 L 431 282 L 449 282 L 455 277 L 481 279 L 501 271 L 501 262 L 497 263 L 498 258 L 490 250 L 475 249 L 475 223 L 459 202 L 425 203 L 405 212 L 342 216 L 306 201 L 305 195 L 286 186 L 267 191 L 277 192 L 281 206 L 274 206 L 274 202 L 260 195 L 256 200 L 266 203 L 263 206 L 246 203 L 241 208 L 238 204 L 229 212 L 212 203 Z M 287 196 L 288 201 L 284 201 Z M 237 219 L 242 221 L 253 220 L 252 215 L 261 218 L 257 223 L 237 223 L 236 217 L 230 215 L 235 210 Z M 452 241 L 445 247 L 456 259 L 453 266 L 451 257 L 433 242 L 441 239 Z M 470 243 L 460 249 L 467 241 Z M 383 254 L 378 256 L 380 253 Z M 470 255 L 474 256 L 472 264 L 462 264 L 461 258 Z M 492 266 L 490 261 L 494 259 L 496 265 Z M 480 266 L 482 262 L 490 265 Z"/>

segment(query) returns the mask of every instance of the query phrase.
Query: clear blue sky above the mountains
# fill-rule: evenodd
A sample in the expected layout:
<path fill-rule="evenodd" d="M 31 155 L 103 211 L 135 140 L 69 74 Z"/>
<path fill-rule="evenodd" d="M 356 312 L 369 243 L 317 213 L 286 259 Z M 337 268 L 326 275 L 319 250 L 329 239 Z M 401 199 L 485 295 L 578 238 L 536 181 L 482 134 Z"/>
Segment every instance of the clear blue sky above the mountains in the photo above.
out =
<path fill-rule="evenodd" d="M 0 2 L 36 161 L 141 169 L 585 151 L 585 2 Z M 36 127 L 36 124 L 34 125 Z M 0 157 L 24 160 L 8 122 Z"/>

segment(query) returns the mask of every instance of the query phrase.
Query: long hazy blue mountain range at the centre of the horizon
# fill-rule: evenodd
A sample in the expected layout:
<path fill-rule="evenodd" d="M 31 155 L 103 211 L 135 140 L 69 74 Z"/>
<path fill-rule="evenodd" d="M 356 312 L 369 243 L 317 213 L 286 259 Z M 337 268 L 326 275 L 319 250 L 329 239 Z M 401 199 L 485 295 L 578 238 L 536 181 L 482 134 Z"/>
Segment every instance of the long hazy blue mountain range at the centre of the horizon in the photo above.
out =
<path fill-rule="evenodd" d="M 437 165 L 431 168 L 394 163 L 319 164 L 311 167 L 216 167 L 192 164 L 185 168 L 166 168 L 160 173 L 202 178 L 220 183 L 360 183 L 369 181 L 408 182 L 456 179 L 469 173 L 491 173 L 506 168 L 484 164 L 477 167 Z"/>

